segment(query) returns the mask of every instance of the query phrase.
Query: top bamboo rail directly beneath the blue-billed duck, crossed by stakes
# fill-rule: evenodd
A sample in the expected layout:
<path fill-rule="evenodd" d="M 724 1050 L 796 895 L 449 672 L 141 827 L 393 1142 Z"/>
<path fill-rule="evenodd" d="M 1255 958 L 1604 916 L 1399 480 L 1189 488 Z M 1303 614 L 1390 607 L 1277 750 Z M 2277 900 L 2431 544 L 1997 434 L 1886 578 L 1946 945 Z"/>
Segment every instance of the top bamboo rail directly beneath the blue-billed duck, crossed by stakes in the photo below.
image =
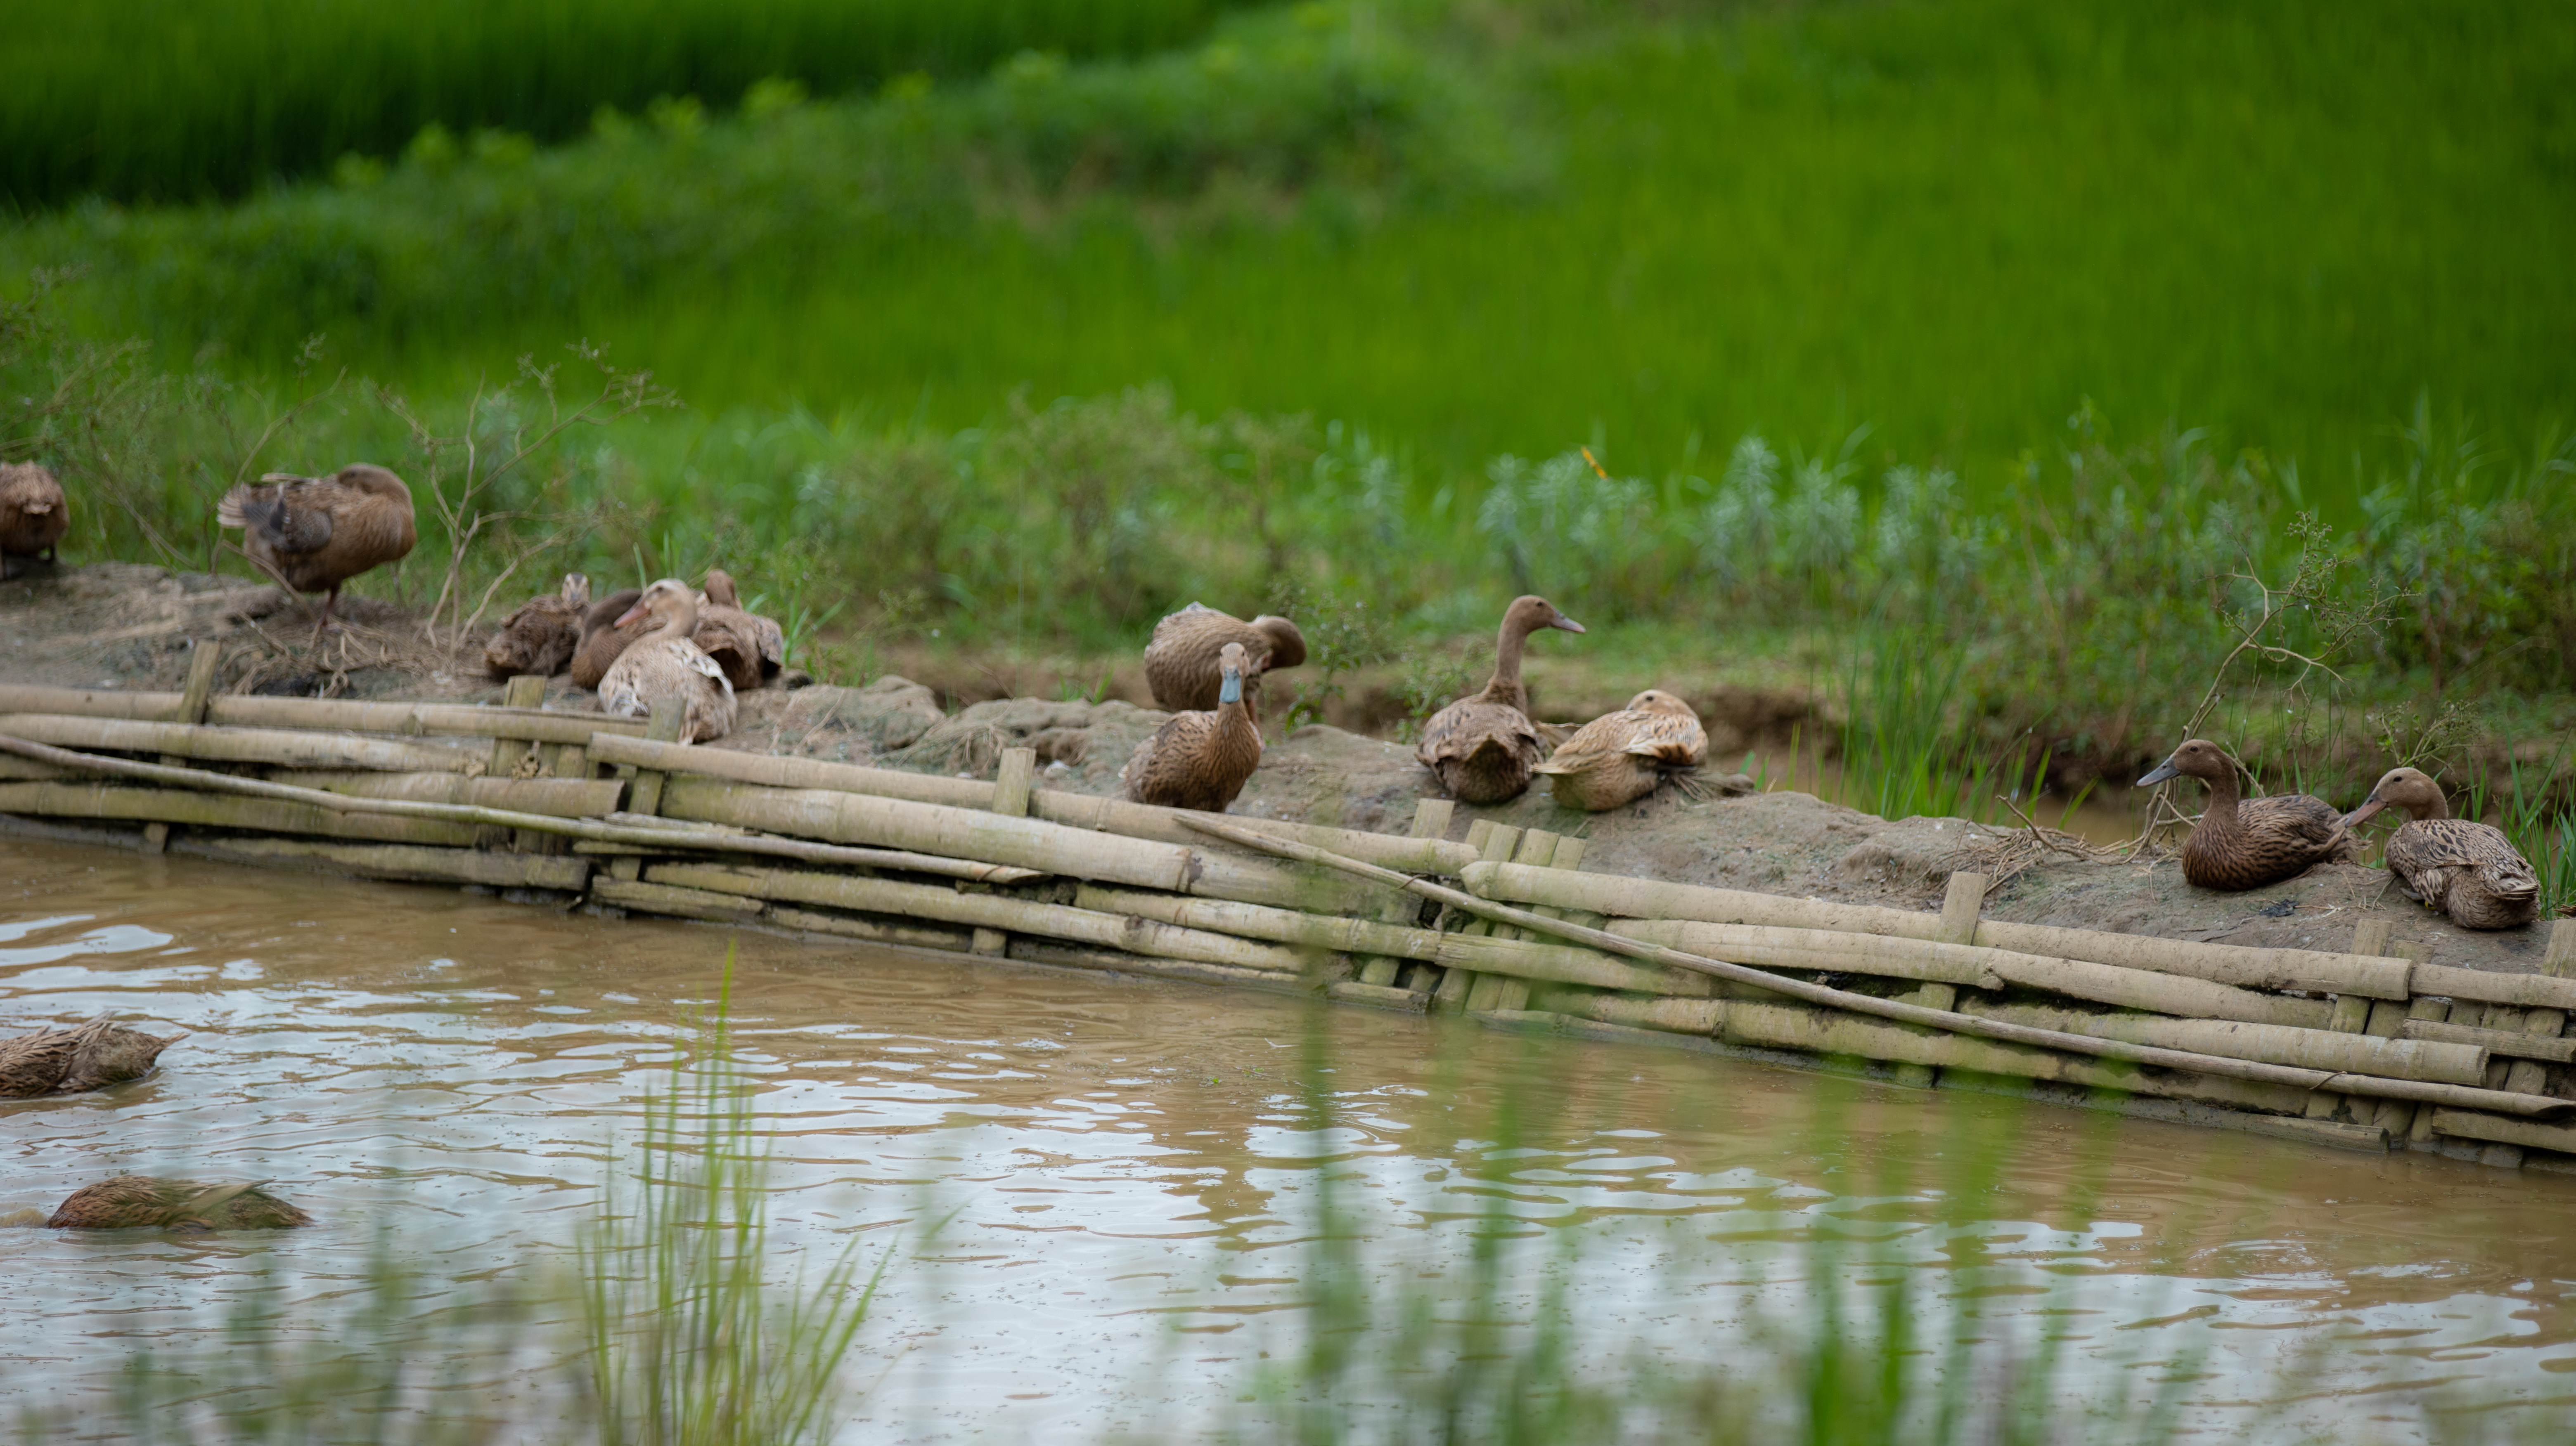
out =
<path fill-rule="evenodd" d="M 757 782 L 765 787 L 858 792 L 868 798 L 899 798 L 909 803 L 938 803 L 945 808 L 992 810 L 994 785 L 963 777 L 914 774 L 902 769 L 871 769 L 860 764 L 827 764 L 822 759 L 783 759 L 770 754 L 737 754 L 732 749 L 690 749 L 680 744 L 647 744 L 641 738 L 608 738 L 592 749 L 595 759 L 613 764 L 657 767 L 675 774 L 721 777 L 732 782 Z M 1203 847 L 1180 818 L 1185 808 L 1157 808 L 1123 798 L 1092 798 L 1087 792 L 1056 792 L 1033 787 L 1028 792 L 1028 818 L 1118 834 L 1126 839 L 1154 839 L 1162 844 Z M 1399 834 L 1363 834 L 1355 828 L 1329 828 L 1324 823 L 1288 823 L 1283 818 L 1236 818 L 1247 828 L 1280 839 L 1303 839 L 1324 849 L 1363 857 L 1373 865 L 1453 875 L 1476 854 L 1463 844 L 1437 836 L 1412 839 Z"/>

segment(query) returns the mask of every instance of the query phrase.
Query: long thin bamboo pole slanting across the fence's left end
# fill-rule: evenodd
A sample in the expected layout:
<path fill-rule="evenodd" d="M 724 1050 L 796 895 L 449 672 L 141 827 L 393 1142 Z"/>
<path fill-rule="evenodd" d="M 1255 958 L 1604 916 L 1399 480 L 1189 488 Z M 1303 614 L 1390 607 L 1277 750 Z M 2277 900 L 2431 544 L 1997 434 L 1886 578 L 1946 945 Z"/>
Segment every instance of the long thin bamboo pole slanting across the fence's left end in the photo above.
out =
<path fill-rule="evenodd" d="M 809 862 L 832 862 L 832 865 L 909 870 L 909 872 L 963 877 L 963 880 L 979 880 L 979 883 L 1020 883 L 1020 880 L 1028 880 L 1028 877 L 1038 877 L 1033 870 L 1015 870 L 1015 867 L 1007 867 L 1007 865 L 987 865 L 987 862 L 974 862 L 974 859 L 951 859 L 951 857 L 933 857 L 933 854 L 909 854 L 909 852 L 899 852 L 899 849 L 845 849 L 845 847 L 832 847 L 832 844 L 811 844 L 806 839 L 770 839 L 770 836 L 762 836 L 762 834 L 716 834 L 716 831 L 708 831 L 708 828 L 696 828 L 696 831 L 690 831 L 690 828 L 634 828 L 634 826 L 595 823 L 590 818 L 551 818 L 551 816 L 544 816 L 544 813 L 515 813 L 515 810 L 505 810 L 505 808 L 482 808 L 482 805 L 471 805 L 471 803 L 412 803 L 412 800 L 394 800 L 394 798 L 353 798 L 353 795 L 330 792 L 330 790 L 319 790 L 319 787 L 294 787 L 294 785 L 283 785 L 283 782 L 265 782 L 265 780 L 252 780 L 252 777 L 216 774 L 216 772 L 206 772 L 206 769 L 180 769 L 180 767 L 165 767 L 165 764 L 137 764 L 137 762 L 126 762 L 126 759 L 100 759 L 95 754 L 75 754 L 70 749 L 54 749 L 54 746 L 46 746 L 46 744 L 31 744 L 26 738 L 10 738 L 5 733 L 0 733 L 0 751 L 18 754 L 18 756 L 26 756 L 26 759 L 36 759 L 36 762 L 46 762 L 46 764 L 57 764 L 57 767 L 64 767 L 64 769 L 72 769 L 72 772 L 80 772 L 80 774 L 134 777 L 134 780 L 147 780 L 147 782 L 167 782 L 167 785 L 178 785 L 178 787 L 185 787 L 185 790 L 201 790 L 201 792 L 188 792 L 188 795 L 167 795 L 167 792 L 157 792 L 157 790 L 113 790 L 113 792 L 134 792 L 134 795 L 162 798 L 162 800 L 173 800 L 175 798 L 180 803 L 165 803 L 162 808 L 178 810 L 178 813 L 173 813 L 173 818 L 183 821 L 183 823 L 185 821 L 196 821 L 188 813 L 191 805 L 183 803 L 183 800 L 188 800 L 188 798 L 204 798 L 204 792 L 240 792 L 240 795 L 247 795 L 247 798 L 263 798 L 263 800 L 276 800 L 276 803 L 304 803 L 304 805 L 312 805 L 312 808 L 325 810 L 330 816 L 386 813 L 386 816 L 394 816 L 394 818 L 425 818 L 425 821 L 440 821 L 440 823 L 482 823 L 482 826 L 495 826 L 495 828 L 533 828 L 538 834 L 562 834 L 562 836 L 569 836 L 569 839 L 590 839 L 590 841 L 598 841 L 598 844 L 644 844 L 649 849 L 703 849 L 703 852 L 719 852 L 719 854 L 768 854 L 768 857 L 781 857 L 781 859 L 809 859 Z M 0 785 L 0 810 L 5 810 L 8 808 L 8 798 L 13 798 L 8 792 L 10 787 L 72 787 L 72 785 Z M 82 787 L 95 787 L 95 785 L 82 785 Z M 131 805 L 124 805 L 124 808 L 152 808 L 152 805 L 147 805 L 147 803 L 131 803 Z M 77 810 L 70 810 L 70 808 L 36 808 L 36 805 L 26 805 L 23 810 L 26 813 L 67 813 L 72 818 L 155 818 L 157 816 L 157 813 L 149 813 L 149 810 L 147 813 L 131 813 L 131 810 L 126 810 L 126 813 L 77 813 Z M 237 823 L 237 826 L 240 828 L 258 828 L 258 823 Z M 270 828 L 270 831 L 276 831 L 276 834 L 330 834 L 332 828 L 286 828 L 286 826 L 278 826 L 278 828 Z M 471 834 L 453 836 L 453 839 L 448 834 L 440 834 L 435 839 L 422 839 L 422 841 L 471 841 Z"/>

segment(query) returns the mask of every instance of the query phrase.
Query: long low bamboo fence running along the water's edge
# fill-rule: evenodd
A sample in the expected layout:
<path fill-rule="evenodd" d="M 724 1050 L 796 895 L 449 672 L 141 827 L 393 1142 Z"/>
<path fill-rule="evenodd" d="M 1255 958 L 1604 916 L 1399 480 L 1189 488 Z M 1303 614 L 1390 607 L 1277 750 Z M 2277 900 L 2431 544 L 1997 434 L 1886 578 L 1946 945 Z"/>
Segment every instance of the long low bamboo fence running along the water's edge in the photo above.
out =
<path fill-rule="evenodd" d="M 2576 921 L 2537 973 L 2244 949 L 1582 870 L 1425 800 L 1409 834 L 1198 816 L 675 741 L 677 718 L 0 684 L 0 823 L 1043 967 L 1999 1088 L 2339 1148 L 2576 1168 Z M 1443 883 L 1453 880 L 1453 883 Z"/>

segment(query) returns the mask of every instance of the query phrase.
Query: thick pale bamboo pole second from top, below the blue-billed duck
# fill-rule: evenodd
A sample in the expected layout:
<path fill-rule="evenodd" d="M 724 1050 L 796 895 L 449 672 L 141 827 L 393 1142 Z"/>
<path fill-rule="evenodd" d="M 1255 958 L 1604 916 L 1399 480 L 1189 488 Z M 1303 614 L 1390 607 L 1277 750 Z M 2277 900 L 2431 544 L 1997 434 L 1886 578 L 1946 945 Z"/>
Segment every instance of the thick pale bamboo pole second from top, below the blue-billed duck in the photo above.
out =
<path fill-rule="evenodd" d="M 1126 883 L 1164 893 L 1200 893 L 1208 898 L 1329 911 L 1350 908 L 1360 901 L 1340 880 L 1301 877 L 1270 859 L 1180 849 L 1115 834 L 1087 834 L 1038 818 L 1005 818 L 999 813 L 912 803 L 904 798 L 811 787 L 757 787 L 672 774 L 662 790 L 662 813 L 667 818 L 737 823 L 804 839 L 1015 865 L 1059 877 Z"/>

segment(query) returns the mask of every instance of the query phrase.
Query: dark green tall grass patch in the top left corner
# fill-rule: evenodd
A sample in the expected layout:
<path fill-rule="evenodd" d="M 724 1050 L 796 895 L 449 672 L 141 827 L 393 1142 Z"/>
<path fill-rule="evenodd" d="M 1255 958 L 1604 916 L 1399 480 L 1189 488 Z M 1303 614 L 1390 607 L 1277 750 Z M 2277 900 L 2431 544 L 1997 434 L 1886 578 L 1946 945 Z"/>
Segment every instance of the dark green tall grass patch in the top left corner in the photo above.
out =
<path fill-rule="evenodd" d="M 1224 0 L 5 0 L 0 203 L 196 201 L 389 157 L 422 126 L 577 136 L 760 80 L 817 93 L 1141 54 Z"/>

